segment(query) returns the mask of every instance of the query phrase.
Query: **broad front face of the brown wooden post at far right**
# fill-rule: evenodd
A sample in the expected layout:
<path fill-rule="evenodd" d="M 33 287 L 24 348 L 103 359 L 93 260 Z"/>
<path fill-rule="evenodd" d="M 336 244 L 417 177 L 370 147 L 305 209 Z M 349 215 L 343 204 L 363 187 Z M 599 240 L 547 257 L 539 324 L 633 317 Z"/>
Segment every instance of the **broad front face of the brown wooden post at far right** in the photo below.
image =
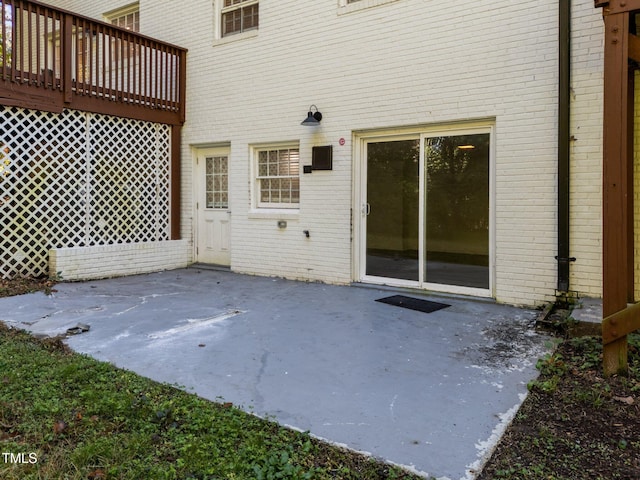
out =
<path fill-rule="evenodd" d="M 640 3 L 640 0 L 638 0 Z M 629 265 L 628 216 L 628 131 L 629 105 L 629 14 L 608 15 L 605 23 L 604 53 L 604 158 L 603 158 L 603 316 L 627 308 Z M 603 327 L 603 335 L 604 335 Z M 626 371 L 627 339 L 604 346 L 606 375 Z"/>

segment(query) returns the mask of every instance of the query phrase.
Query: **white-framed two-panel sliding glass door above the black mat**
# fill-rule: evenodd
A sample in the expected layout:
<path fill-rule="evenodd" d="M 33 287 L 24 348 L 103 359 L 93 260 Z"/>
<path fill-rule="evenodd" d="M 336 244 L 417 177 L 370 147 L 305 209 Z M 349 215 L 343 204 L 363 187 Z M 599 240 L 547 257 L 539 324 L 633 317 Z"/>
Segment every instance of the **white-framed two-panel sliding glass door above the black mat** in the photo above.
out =
<path fill-rule="evenodd" d="M 490 290 L 490 142 L 488 128 L 364 142 L 365 280 Z"/>

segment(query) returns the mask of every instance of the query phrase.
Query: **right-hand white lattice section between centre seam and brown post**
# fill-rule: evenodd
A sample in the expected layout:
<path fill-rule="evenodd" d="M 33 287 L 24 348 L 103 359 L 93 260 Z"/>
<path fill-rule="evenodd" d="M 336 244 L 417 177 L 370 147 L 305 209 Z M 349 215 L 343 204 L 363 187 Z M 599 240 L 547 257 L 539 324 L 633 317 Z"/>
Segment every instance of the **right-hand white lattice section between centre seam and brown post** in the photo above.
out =
<path fill-rule="evenodd" d="M 168 239 L 168 127 L 93 116 L 90 237 L 94 244 Z M 166 148 L 157 147 L 159 140 Z"/>

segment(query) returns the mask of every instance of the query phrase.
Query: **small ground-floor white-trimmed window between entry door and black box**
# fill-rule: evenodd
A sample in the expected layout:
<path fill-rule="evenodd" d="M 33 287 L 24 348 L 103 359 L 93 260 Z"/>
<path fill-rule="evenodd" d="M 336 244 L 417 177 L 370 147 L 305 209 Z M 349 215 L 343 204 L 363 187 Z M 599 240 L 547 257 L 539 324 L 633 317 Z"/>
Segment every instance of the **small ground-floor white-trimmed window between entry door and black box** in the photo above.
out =
<path fill-rule="evenodd" d="M 256 206 L 298 208 L 300 149 L 298 145 L 256 148 Z"/>

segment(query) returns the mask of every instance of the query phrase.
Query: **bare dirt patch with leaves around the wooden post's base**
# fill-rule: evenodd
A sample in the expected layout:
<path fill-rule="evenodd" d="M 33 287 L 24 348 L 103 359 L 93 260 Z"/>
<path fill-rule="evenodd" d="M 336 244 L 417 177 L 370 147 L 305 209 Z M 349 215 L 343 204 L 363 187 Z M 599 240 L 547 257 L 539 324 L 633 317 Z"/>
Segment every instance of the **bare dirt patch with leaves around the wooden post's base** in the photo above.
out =
<path fill-rule="evenodd" d="M 640 336 L 628 376 L 604 378 L 596 337 L 567 340 L 540 377 L 478 480 L 640 478 Z"/>

